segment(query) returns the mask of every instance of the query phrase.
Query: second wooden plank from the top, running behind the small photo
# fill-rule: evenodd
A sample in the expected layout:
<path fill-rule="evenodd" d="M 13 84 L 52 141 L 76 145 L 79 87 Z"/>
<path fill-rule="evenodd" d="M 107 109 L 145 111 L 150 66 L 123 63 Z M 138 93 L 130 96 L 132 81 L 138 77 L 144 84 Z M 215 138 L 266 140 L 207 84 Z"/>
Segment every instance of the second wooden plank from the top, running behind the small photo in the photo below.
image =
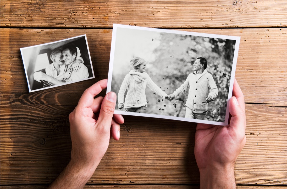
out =
<path fill-rule="evenodd" d="M 287 104 L 287 28 L 193 29 L 193 32 L 241 36 L 236 78 L 247 103 Z M 108 76 L 111 30 L 94 29 L 8 29 L 2 28 L 0 52 L 1 103 L 48 103 L 76 105 L 63 98 L 71 91 L 78 98 L 84 89 Z M 28 93 L 20 47 L 37 45 L 87 34 L 95 79 Z M 23 93 L 24 91 L 24 93 Z M 13 100 L 8 102 L 7 100 Z"/>

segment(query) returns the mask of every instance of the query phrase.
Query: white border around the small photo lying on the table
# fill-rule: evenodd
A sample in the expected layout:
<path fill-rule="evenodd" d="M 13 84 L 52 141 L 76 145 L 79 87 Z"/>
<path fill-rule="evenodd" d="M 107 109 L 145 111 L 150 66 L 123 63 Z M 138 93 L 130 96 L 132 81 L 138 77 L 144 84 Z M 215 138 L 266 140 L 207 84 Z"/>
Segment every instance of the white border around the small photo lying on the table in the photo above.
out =
<path fill-rule="evenodd" d="M 25 61 L 24 61 L 23 50 L 24 49 L 29 49 L 29 48 L 34 48 L 34 47 L 40 47 L 40 46 L 44 46 L 44 45 L 50 45 L 50 44 L 53 44 L 53 43 L 59 43 L 59 42 L 62 42 L 62 41 L 67 41 L 67 40 L 70 40 L 70 39 L 75 39 L 75 38 L 80 38 L 80 37 L 85 37 L 93 76 L 92 77 L 88 77 L 86 79 L 80 79 L 80 80 L 77 80 L 77 81 L 72 81 L 72 82 L 69 82 L 69 83 L 63 83 L 63 84 L 59 84 L 59 85 L 53 85 L 53 86 L 50 86 L 50 87 L 45 87 L 45 88 L 31 90 L 30 82 L 29 82 L 29 79 L 28 79 L 27 68 L 26 68 L 26 64 L 25 64 Z M 23 60 L 23 64 L 24 64 L 24 70 L 25 70 L 26 79 L 27 79 L 27 83 L 28 83 L 29 93 L 30 92 L 35 92 L 35 91 L 41 91 L 41 90 L 45 90 L 45 89 L 50 89 L 50 88 L 54 88 L 54 87 L 59 87 L 59 86 L 63 86 L 63 85 L 68 85 L 68 84 L 71 84 L 71 83 L 77 83 L 79 81 L 85 81 L 85 80 L 88 80 L 88 79 L 94 79 L 95 78 L 94 69 L 93 69 L 92 60 L 91 60 L 91 55 L 90 55 L 90 49 L 89 49 L 89 45 L 88 45 L 88 40 L 87 40 L 86 34 L 75 36 L 75 37 L 71 37 L 71 38 L 67 38 L 67 39 L 62 39 L 62 40 L 59 40 L 59 41 L 53 41 L 53 42 L 50 42 L 50 43 L 43 43 L 43 44 L 40 44 L 40 45 L 34 45 L 34 46 L 30 46 L 30 47 L 22 47 L 22 48 L 20 48 L 20 52 L 21 52 L 21 56 L 22 56 L 22 60 Z"/>

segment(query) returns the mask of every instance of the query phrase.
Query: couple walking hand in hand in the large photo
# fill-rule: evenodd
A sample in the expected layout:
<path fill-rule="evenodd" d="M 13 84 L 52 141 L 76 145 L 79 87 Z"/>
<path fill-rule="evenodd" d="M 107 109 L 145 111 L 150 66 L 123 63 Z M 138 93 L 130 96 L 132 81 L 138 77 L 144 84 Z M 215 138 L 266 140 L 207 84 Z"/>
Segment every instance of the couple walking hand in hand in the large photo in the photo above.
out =
<path fill-rule="evenodd" d="M 218 95 L 218 88 L 210 73 L 207 72 L 207 60 L 197 57 L 193 64 L 193 73 L 189 74 L 186 81 L 172 94 L 167 95 L 160 89 L 146 73 L 146 61 L 135 57 L 130 61 L 131 70 L 123 80 L 118 94 L 118 107 L 126 112 L 145 113 L 147 108 L 146 85 L 157 95 L 169 101 L 181 96 L 188 89 L 185 104 L 185 117 L 204 119 L 207 105 Z M 124 102 L 125 91 L 127 94 Z"/>

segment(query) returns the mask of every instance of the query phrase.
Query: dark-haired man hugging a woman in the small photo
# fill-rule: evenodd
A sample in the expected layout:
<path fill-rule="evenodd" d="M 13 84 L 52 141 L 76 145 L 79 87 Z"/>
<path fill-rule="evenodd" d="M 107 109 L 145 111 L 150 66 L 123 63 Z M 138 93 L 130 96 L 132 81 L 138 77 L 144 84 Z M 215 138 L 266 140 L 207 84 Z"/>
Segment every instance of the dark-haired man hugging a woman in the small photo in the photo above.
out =
<path fill-rule="evenodd" d="M 52 85 L 60 85 L 67 82 L 78 81 L 89 77 L 88 68 L 83 64 L 84 60 L 77 56 L 77 47 L 73 44 L 64 45 L 63 47 L 63 61 L 66 65 L 64 73 L 68 72 L 69 78 L 65 78 L 62 81 L 51 77 L 43 72 L 35 72 L 34 79 L 38 82 L 41 80 L 48 81 Z"/>

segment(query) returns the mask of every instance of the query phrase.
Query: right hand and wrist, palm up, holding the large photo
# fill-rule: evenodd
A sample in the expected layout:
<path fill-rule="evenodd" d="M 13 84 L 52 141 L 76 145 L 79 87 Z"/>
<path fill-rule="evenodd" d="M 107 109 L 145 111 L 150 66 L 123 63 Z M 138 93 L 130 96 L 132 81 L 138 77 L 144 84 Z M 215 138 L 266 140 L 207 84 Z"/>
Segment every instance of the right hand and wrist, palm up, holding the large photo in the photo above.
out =
<path fill-rule="evenodd" d="M 234 163 L 246 141 L 244 96 L 236 80 L 232 95 L 228 125 L 197 124 L 194 154 L 200 172 L 200 188 L 210 185 L 215 188 L 236 187 Z"/>

